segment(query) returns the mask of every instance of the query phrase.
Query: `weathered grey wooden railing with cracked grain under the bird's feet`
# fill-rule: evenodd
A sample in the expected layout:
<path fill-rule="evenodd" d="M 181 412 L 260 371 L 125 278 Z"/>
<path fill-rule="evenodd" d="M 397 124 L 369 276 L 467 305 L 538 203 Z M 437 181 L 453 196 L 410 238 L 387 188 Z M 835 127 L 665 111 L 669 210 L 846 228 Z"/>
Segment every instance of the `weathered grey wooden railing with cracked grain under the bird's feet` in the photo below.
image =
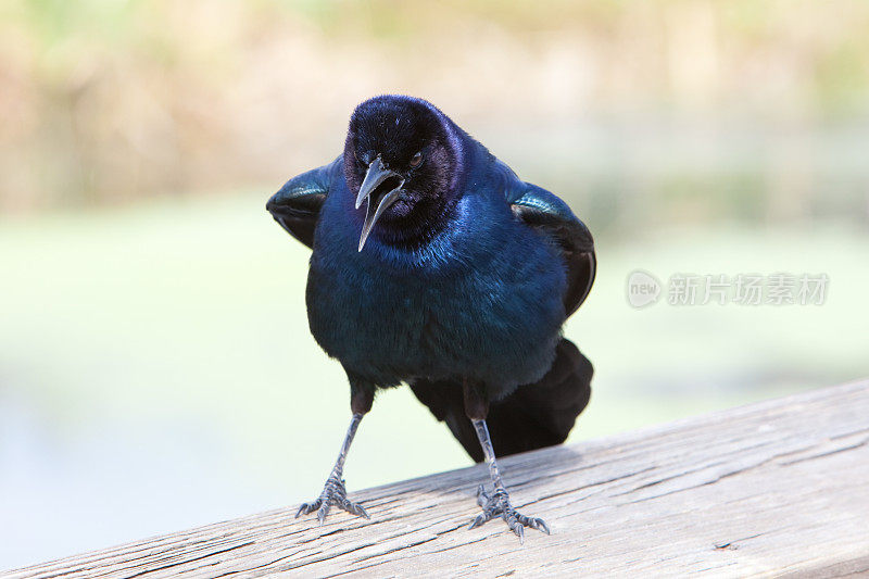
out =
<path fill-rule="evenodd" d="M 366 521 L 277 509 L 3 577 L 869 574 L 869 382 L 508 457 L 520 509 L 467 530 L 484 466 L 353 493 Z"/>

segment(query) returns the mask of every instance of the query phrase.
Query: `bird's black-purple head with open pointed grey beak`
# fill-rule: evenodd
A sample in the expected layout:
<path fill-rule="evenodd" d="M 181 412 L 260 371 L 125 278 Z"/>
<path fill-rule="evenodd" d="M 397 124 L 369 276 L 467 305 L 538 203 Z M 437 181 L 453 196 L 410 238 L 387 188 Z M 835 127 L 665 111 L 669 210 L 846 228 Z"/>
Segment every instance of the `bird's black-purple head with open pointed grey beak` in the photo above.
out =
<path fill-rule="evenodd" d="M 344 176 L 356 211 L 366 212 L 360 251 L 375 226 L 378 238 L 393 244 L 433 235 L 461 175 L 457 131 L 432 104 L 412 97 L 375 97 L 356 108 Z"/>

